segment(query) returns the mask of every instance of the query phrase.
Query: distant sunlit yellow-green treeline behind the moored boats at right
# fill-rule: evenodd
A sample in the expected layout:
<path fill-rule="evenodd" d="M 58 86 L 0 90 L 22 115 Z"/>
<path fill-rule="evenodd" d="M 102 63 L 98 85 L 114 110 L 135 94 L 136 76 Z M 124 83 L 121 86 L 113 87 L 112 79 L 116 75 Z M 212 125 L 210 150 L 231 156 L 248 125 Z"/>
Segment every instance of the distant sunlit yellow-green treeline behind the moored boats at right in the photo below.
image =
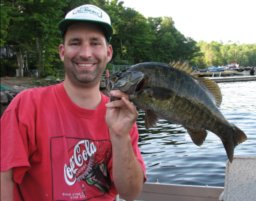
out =
<path fill-rule="evenodd" d="M 231 43 L 229 40 L 228 43 Z M 223 44 L 222 41 L 211 41 L 210 43 L 200 40 L 197 43 L 200 47 L 201 56 L 194 57 L 193 63 L 198 67 L 225 66 L 229 63 L 238 63 L 240 66 L 256 65 L 256 43 L 254 44 Z"/>

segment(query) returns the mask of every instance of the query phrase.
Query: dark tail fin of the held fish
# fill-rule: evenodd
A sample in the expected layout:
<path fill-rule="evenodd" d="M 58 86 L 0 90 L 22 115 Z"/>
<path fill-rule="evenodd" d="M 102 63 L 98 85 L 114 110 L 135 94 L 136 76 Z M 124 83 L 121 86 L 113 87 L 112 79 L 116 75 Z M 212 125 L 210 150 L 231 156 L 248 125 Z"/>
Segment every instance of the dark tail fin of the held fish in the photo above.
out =
<path fill-rule="evenodd" d="M 247 140 L 246 135 L 241 131 L 238 127 L 236 127 L 234 124 L 233 126 L 233 131 L 231 132 L 231 135 L 229 138 L 227 138 L 226 141 L 222 140 L 222 143 L 224 145 L 224 148 L 226 150 L 226 155 L 227 158 L 229 159 L 230 163 L 232 163 L 233 160 L 233 155 L 234 155 L 234 148 Z"/>

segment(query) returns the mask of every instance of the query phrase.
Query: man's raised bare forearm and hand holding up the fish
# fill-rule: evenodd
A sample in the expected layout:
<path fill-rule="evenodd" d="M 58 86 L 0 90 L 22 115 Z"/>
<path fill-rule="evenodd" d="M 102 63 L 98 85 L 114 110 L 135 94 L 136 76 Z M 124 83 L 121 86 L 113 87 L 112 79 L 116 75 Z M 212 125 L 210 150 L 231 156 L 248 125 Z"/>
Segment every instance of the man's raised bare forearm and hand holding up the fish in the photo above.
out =
<path fill-rule="evenodd" d="M 111 95 L 121 100 L 106 104 L 106 123 L 109 129 L 112 157 L 113 182 L 118 194 L 126 201 L 139 196 L 144 181 L 143 171 L 133 153 L 129 131 L 135 123 L 138 113 L 127 100 L 128 95 L 115 91 Z"/>

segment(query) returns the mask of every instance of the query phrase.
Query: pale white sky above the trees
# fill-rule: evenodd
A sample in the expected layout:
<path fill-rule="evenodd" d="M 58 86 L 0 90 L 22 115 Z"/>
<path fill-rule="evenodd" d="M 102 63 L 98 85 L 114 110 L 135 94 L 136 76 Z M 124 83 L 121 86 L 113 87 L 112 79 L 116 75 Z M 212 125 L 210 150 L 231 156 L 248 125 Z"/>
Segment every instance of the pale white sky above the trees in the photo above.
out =
<path fill-rule="evenodd" d="M 172 17 L 176 29 L 197 42 L 256 43 L 256 0 L 121 1 L 144 17 Z"/>

